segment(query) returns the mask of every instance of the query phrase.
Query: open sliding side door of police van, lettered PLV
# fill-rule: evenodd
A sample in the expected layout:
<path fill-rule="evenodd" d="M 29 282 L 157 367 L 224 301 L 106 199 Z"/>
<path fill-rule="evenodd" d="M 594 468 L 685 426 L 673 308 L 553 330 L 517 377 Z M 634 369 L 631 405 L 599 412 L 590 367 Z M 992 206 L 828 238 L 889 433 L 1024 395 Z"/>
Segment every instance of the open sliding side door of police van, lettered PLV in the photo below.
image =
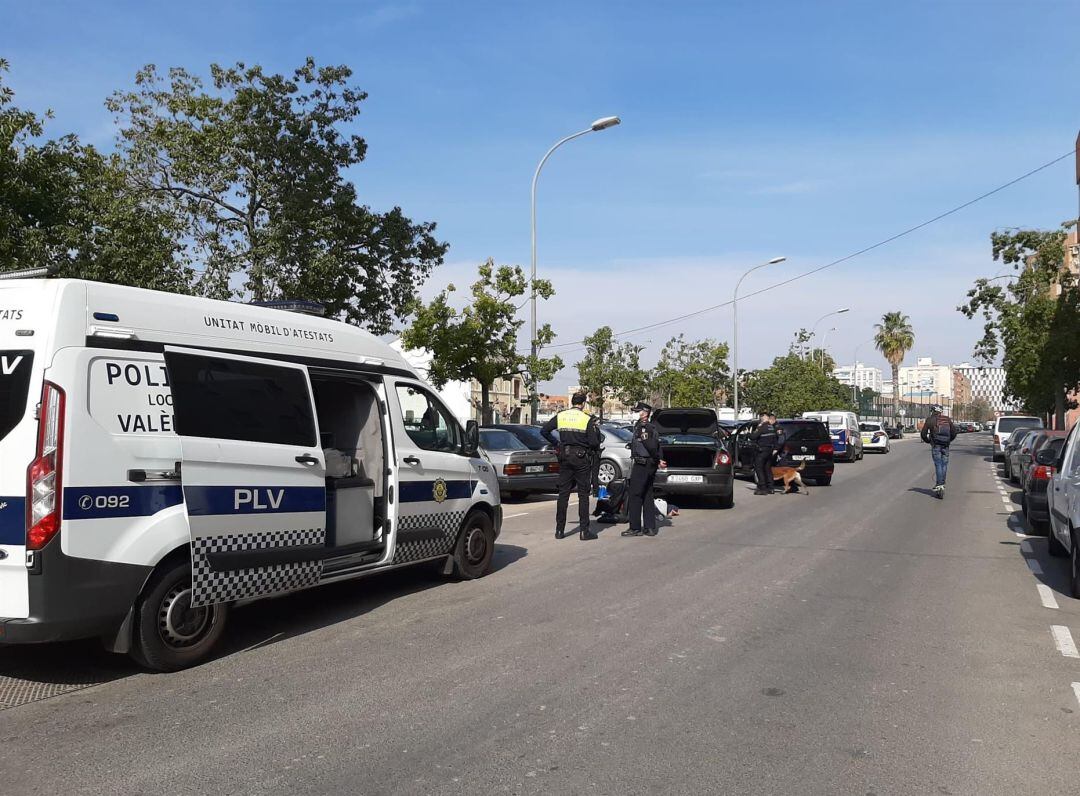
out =
<path fill-rule="evenodd" d="M 165 349 L 191 532 L 192 605 L 319 582 L 326 466 L 307 368 Z"/>

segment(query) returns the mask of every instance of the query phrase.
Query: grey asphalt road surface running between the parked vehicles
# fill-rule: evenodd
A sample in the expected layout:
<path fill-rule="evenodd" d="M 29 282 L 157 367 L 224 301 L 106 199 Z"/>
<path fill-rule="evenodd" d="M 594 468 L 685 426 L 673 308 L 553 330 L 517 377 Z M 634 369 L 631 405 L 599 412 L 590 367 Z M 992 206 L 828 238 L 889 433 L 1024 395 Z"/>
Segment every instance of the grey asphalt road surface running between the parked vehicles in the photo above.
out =
<path fill-rule="evenodd" d="M 0 712 L 0 792 L 1080 792 L 1080 605 L 988 455 L 957 441 L 944 501 L 904 441 L 651 539 L 511 504 L 487 578 L 257 604 L 179 674 L 0 650 L 112 677 Z"/>

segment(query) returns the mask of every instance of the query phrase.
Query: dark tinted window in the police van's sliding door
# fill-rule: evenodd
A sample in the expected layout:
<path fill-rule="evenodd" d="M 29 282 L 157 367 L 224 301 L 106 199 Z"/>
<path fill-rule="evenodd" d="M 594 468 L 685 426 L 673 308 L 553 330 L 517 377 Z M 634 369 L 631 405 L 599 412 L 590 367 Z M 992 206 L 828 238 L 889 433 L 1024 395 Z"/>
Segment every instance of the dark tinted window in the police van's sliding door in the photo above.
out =
<path fill-rule="evenodd" d="M 193 354 L 166 356 L 178 434 L 315 445 L 315 419 L 302 370 Z"/>

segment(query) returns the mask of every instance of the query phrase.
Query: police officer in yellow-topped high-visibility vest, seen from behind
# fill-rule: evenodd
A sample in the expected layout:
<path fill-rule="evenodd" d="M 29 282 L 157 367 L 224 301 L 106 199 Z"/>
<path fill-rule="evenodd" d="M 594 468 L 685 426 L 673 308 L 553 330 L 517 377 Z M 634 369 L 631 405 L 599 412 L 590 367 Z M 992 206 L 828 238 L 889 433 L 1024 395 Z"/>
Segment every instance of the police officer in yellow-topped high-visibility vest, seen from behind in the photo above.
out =
<path fill-rule="evenodd" d="M 589 527 L 589 488 L 592 482 L 593 460 L 600 449 L 600 423 L 585 412 L 585 394 L 577 392 L 570 399 L 571 407 L 564 409 L 543 424 L 540 433 L 558 450 L 558 502 L 555 505 L 555 538 L 562 539 L 566 530 L 566 508 L 570 489 L 578 486 L 578 531 L 581 539 L 595 539 Z M 558 429 L 558 440 L 552 432 Z"/>

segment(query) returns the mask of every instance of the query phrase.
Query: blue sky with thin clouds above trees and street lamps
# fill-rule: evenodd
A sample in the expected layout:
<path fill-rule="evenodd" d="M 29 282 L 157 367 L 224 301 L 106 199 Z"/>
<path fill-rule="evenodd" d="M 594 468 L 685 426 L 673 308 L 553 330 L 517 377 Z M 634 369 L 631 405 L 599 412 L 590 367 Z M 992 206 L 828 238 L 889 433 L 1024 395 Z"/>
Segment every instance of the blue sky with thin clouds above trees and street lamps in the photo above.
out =
<path fill-rule="evenodd" d="M 529 181 L 559 342 L 730 298 L 814 268 L 1068 151 L 1080 127 L 1075 1 L 1035 2 L 0 2 L 0 54 L 19 105 L 50 132 L 108 147 L 103 102 L 140 66 L 348 64 L 370 94 L 351 177 L 379 208 L 435 220 L 450 243 L 427 293 L 487 257 L 528 265 Z M 740 364 L 850 306 L 828 338 L 851 360 L 886 310 L 910 354 L 970 359 L 955 311 L 997 273 L 989 233 L 1077 213 L 1071 159 L 902 241 L 747 299 Z M 831 324 L 823 324 L 822 329 Z M 730 309 L 630 338 L 731 337 Z M 872 347 L 860 359 L 883 364 Z M 568 363 L 576 351 L 566 350 Z M 561 382 L 572 381 L 567 373 Z"/>

